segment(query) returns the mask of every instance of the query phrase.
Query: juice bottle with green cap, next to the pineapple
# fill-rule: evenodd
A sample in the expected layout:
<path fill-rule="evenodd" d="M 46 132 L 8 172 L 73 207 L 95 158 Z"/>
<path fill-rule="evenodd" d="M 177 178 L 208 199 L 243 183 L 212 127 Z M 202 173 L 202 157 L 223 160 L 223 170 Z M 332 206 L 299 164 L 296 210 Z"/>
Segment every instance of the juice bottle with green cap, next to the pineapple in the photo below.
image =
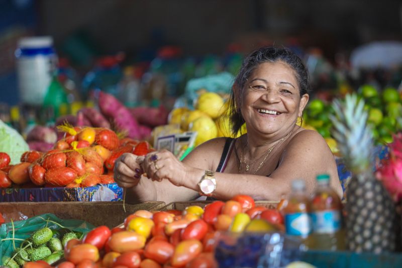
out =
<path fill-rule="evenodd" d="M 342 250 L 345 234 L 341 229 L 341 200 L 330 187 L 328 174 L 318 175 L 317 184 L 312 198 L 313 234 L 309 237 L 309 248 Z"/>

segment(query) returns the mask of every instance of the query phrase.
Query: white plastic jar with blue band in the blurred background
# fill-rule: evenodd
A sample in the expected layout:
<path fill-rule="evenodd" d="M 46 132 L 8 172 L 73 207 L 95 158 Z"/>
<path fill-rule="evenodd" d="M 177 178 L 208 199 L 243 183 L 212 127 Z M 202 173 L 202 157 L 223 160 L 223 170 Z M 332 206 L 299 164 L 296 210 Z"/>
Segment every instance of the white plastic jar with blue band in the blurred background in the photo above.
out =
<path fill-rule="evenodd" d="M 22 38 L 15 55 L 20 101 L 29 105 L 42 105 L 57 63 L 53 38 Z"/>

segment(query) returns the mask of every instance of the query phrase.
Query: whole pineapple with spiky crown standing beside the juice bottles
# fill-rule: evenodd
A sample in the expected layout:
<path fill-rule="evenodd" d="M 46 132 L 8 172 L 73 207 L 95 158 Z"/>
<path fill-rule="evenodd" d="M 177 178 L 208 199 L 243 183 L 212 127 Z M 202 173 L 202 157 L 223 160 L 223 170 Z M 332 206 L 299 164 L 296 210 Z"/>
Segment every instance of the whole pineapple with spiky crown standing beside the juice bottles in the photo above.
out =
<path fill-rule="evenodd" d="M 348 248 L 356 252 L 393 251 L 395 208 L 371 169 L 374 147 L 364 101 L 347 95 L 345 103 L 335 100 L 333 107 L 333 136 L 352 172 L 345 204 Z"/>

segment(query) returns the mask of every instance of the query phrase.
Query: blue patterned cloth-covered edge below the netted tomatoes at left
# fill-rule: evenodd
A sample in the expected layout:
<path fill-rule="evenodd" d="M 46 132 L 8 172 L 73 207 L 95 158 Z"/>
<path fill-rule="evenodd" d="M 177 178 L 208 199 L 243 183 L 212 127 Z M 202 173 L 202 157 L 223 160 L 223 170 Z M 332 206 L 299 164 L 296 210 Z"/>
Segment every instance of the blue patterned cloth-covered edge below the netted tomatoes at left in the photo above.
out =
<path fill-rule="evenodd" d="M 116 183 L 77 188 L 2 188 L 0 202 L 122 201 L 123 189 Z"/>

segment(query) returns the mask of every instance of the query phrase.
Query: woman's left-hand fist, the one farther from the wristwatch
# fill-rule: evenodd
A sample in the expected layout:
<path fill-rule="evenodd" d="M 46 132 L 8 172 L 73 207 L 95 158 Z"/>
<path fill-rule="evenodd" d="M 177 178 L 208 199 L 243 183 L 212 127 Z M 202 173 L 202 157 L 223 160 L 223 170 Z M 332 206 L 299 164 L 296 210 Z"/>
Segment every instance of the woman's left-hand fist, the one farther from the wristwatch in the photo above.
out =
<path fill-rule="evenodd" d="M 132 188 L 140 182 L 144 156 L 124 153 L 115 162 L 114 177 L 120 187 Z"/>

